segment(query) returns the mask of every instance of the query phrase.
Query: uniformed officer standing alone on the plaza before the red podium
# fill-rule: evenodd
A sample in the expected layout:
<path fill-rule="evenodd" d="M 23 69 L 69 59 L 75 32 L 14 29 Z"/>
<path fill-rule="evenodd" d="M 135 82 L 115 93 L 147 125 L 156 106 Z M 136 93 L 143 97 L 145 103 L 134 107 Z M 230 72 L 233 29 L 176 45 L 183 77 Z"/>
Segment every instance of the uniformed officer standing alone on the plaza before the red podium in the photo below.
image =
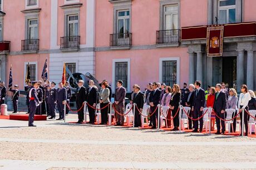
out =
<path fill-rule="evenodd" d="M 32 82 L 32 87 L 29 88 L 28 97 L 29 97 L 29 119 L 28 119 L 28 126 L 36 127 L 34 125 L 34 116 L 36 113 L 36 108 L 39 106 L 40 101 L 37 98 L 36 89 L 39 87 L 39 83 L 37 81 Z"/>

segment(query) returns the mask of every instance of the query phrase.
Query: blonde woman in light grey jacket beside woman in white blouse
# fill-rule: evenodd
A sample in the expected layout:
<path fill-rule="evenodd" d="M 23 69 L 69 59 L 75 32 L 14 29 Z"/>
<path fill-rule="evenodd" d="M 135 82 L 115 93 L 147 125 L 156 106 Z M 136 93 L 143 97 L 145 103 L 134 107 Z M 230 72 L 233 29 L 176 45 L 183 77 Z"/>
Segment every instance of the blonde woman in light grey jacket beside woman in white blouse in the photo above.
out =
<path fill-rule="evenodd" d="M 235 113 L 232 115 L 232 118 L 237 115 L 237 91 L 235 91 L 234 88 L 230 88 L 229 89 L 229 97 L 228 97 L 228 101 L 227 101 L 227 109 L 232 108 L 235 109 Z M 237 118 L 234 118 L 233 120 L 233 129 L 235 132 L 235 129 L 237 127 Z M 233 132 L 232 127 L 230 127 L 230 132 Z M 234 133 L 233 132 L 233 133 Z"/>

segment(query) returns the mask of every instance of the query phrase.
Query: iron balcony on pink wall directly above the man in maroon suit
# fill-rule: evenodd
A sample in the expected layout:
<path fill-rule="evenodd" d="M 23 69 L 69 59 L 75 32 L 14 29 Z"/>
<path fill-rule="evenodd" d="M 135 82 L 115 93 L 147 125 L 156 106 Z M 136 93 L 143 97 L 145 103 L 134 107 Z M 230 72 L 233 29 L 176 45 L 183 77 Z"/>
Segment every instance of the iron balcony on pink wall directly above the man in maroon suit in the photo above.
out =
<path fill-rule="evenodd" d="M 132 33 L 110 34 L 111 49 L 130 49 L 132 44 Z"/>

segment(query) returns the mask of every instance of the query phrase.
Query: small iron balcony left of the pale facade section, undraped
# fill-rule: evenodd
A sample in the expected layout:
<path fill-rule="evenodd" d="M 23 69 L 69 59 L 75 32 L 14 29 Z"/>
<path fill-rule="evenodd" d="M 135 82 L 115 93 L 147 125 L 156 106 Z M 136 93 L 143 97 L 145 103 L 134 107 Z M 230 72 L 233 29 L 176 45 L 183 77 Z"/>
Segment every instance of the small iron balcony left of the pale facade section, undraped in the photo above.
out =
<path fill-rule="evenodd" d="M 37 53 L 39 50 L 39 39 L 24 39 L 21 41 L 23 53 Z"/>

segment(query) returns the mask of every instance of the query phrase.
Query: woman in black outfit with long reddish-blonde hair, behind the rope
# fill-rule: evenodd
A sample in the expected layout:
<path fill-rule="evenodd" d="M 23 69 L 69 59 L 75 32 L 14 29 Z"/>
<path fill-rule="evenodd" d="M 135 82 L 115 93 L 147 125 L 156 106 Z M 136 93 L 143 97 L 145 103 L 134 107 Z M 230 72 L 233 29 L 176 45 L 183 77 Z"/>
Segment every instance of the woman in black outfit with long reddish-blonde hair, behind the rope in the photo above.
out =
<path fill-rule="evenodd" d="M 171 93 L 171 100 L 170 100 L 170 109 L 173 117 L 175 116 L 176 112 L 179 109 L 180 99 L 181 99 L 180 87 L 178 84 L 174 84 L 173 92 Z M 178 131 L 180 126 L 178 114 L 174 117 L 173 124 L 174 124 L 174 129 L 172 129 L 171 131 Z"/>

